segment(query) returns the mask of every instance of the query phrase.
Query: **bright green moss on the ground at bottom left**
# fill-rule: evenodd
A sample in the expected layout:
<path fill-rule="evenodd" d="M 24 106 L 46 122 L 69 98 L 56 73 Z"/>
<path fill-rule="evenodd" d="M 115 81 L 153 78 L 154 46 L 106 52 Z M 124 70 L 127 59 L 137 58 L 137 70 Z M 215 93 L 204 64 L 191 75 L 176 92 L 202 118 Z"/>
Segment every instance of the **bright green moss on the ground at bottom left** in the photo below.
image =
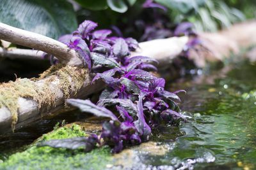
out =
<path fill-rule="evenodd" d="M 79 125 L 60 127 L 45 134 L 38 141 L 63 139 L 86 135 Z M 24 152 L 11 155 L 0 163 L 0 169 L 106 169 L 111 161 L 108 147 L 97 148 L 89 153 L 83 150 L 65 150 L 32 145 Z"/>

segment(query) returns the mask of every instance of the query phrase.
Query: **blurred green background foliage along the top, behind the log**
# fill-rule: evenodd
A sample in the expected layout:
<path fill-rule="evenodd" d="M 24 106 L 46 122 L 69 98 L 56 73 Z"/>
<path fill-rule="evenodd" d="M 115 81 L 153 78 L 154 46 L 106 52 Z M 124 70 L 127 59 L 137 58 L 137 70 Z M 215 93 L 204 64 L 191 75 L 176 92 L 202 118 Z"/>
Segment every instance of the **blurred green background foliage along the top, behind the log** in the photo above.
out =
<path fill-rule="evenodd" d="M 172 25 L 192 22 L 198 31 L 217 31 L 248 18 L 255 18 L 255 1 L 155 0 L 167 10 L 143 8 L 145 0 L 1 0 L 0 22 L 57 39 L 74 31 L 83 20 L 100 27 L 113 25 L 125 36 L 140 38 L 148 23 L 159 18 Z M 73 6 L 75 6 L 75 10 Z M 140 23 L 143 20 L 144 25 Z M 171 25 L 171 26 L 170 26 Z M 138 33 L 137 33 L 138 32 Z"/>

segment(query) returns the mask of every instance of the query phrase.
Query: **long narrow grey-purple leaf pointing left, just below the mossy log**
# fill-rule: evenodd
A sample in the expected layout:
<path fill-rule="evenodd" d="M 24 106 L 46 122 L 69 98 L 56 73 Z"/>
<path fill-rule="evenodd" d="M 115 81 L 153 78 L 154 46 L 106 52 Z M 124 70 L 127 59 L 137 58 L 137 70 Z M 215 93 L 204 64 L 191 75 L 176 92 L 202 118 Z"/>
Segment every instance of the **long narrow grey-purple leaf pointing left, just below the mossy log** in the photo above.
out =
<path fill-rule="evenodd" d="M 104 107 L 97 106 L 93 104 L 90 100 L 81 100 L 81 99 L 67 99 L 67 103 L 72 106 L 76 106 L 83 112 L 92 113 L 97 117 L 109 117 L 112 120 L 118 120 L 116 116 Z"/>

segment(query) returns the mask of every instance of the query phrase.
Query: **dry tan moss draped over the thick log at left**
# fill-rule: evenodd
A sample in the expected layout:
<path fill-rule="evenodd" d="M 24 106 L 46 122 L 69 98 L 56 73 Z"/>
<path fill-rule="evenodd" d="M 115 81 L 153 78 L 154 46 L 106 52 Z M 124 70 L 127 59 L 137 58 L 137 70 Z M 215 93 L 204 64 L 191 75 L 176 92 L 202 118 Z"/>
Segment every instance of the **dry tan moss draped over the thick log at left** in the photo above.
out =
<path fill-rule="evenodd" d="M 0 108 L 5 106 L 12 113 L 12 129 L 18 121 L 18 99 L 24 97 L 33 99 L 38 103 L 38 109 L 45 106 L 49 109 L 55 104 L 56 94 L 51 90 L 51 81 L 59 79 L 59 88 L 63 91 L 63 96 L 68 99 L 70 95 L 75 95 L 83 86 L 88 70 L 76 66 L 63 66 L 58 64 L 52 66 L 39 78 L 18 78 L 0 85 Z M 44 85 L 37 85 L 36 81 L 47 78 Z"/>

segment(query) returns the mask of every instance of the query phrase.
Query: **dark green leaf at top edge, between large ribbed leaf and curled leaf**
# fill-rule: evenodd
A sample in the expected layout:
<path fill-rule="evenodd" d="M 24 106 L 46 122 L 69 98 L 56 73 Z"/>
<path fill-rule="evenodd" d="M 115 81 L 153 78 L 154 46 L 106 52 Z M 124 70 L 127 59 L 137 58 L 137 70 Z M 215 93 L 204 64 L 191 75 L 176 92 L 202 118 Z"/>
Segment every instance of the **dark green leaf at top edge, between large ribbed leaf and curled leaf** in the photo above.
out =
<path fill-rule="evenodd" d="M 108 8 L 106 0 L 76 0 L 76 2 L 89 10 L 106 10 Z"/>

